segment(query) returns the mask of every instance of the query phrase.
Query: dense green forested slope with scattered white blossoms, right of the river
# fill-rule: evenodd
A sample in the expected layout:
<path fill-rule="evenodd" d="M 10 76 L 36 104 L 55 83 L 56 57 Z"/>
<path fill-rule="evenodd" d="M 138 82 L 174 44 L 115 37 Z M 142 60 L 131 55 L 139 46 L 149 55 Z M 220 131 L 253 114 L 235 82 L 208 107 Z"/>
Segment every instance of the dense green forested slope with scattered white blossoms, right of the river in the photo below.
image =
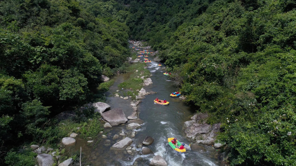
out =
<path fill-rule="evenodd" d="M 151 40 L 208 123 L 222 122 L 231 165 L 295 165 L 295 2 L 163 1 L 155 17 L 172 13 L 145 22 L 153 2 L 131 12 L 132 35 Z"/>

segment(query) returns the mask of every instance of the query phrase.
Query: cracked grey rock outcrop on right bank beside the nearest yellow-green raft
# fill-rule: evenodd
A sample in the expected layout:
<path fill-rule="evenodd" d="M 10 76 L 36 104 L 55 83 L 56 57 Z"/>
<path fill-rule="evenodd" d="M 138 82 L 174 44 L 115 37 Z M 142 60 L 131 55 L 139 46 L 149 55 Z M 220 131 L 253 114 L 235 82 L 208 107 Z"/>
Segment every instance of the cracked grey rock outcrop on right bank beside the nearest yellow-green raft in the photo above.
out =
<path fill-rule="evenodd" d="M 215 143 L 216 136 L 220 132 L 221 123 L 215 123 L 212 126 L 201 121 L 207 117 L 206 114 L 195 114 L 191 117 L 191 121 L 184 123 L 185 134 L 195 144 L 214 145 L 220 148 L 222 144 Z"/>

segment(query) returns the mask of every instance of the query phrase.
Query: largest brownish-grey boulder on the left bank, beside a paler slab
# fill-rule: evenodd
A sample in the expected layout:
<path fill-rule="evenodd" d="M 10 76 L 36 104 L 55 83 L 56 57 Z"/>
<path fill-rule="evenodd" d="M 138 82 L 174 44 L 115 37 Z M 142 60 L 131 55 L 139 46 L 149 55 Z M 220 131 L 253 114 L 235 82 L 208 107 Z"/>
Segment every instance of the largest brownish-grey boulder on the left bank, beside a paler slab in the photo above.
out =
<path fill-rule="evenodd" d="M 110 123 L 111 126 L 117 126 L 128 121 L 123 111 L 118 108 L 102 113 L 102 118 Z"/>

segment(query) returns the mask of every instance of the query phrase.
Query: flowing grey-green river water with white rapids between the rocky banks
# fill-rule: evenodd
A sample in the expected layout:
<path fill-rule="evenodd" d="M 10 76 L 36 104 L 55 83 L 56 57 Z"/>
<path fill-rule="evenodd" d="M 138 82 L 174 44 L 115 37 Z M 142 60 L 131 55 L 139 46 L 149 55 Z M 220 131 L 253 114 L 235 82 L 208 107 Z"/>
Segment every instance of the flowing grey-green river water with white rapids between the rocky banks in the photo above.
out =
<path fill-rule="evenodd" d="M 133 45 L 131 45 L 132 47 Z M 150 55 L 150 59 L 153 57 Z M 144 56 L 140 58 L 144 59 Z M 176 87 L 173 86 L 167 76 L 163 75 L 165 72 L 164 66 L 157 66 L 159 63 L 153 62 L 148 63 L 147 69 L 151 72 L 153 84 L 144 89 L 148 92 L 154 91 L 156 93 L 147 95 L 145 99 L 142 99 L 141 103 L 137 106 L 139 112 L 139 118 L 144 121 L 140 129 L 136 129 L 136 136 L 133 139 L 131 144 L 132 147 L 137 147 L 142 145 L 144 138 L 146 136 L 151 136 L 154 139 L 153 144 L 146 146 L 151 149 L 154 154 L 141 155 L 141 148 L 136 150 L 139 153 L 134 155 L 127 154 L 126 150 L 112 150 L 110 147 L 116 143 L 116 140 L 112 140 L 112 137 L 115 134 L 119 134 L 124 131 L 126 134 L 130 134 L 132 131 L 126 129 L 126 125 L 114 126 L 107 134 L 107 139 L 111 140 L 110 144 L 105 144 L 102 139 L 102 143 L 96 145 L 95 148 L 90 148 L 86 145 L 86 141 L 77 140 L 77 144 L 74 147 L 74 150 L 80 149 L 82 147 L 84 158 L 86 162 L 90 162 L 94 165 L 118 165 L 118 166 L 127 166 L 127 165 L 149 165 L 149 162 L 152 160 L 154 155 L 162 156 L 165 161 L 170 166 L 213 166 L 220 165 L 218 161 L 218 152 L 211 146 L 203 146 L 205 150 L 202 151 L 192 151 L 190 150 L 190 142 L 184 136 L 183 123 L 189 121 L 190 117 L 194 115 L 194 110 L 187 106 L 183 101 L 178 97 L 170 97 L 170 93 L 175 92 Z M 115 83 L 110 87 L 109 92 L 107 92 L 108 101 L 107 103 L 111 105 L 112 108 L 120 108 L 124 111 L 126 117 L 133 113 L 132 106 L 130 105 L 131 99 L 123 100 L 119 97 L 113 97 L 114 93 L 118 89 L 118 84 L 128 79 L 130 74 L 120 74 L 112 79 L 115 80 Z M 124 91 L 125 89 L 120 89 Z M 125 96 L 123 96 L 125 97 Z M 169 105 L 159 105 L 155 104 L 153 100 L 158 97 L 163 100 L 166 99 Z M 185 154 L 178 154 L 168 145 L 167 139 L 169 137 L 175 137 L 179 141 L 184 142 L 185 147 L 189 148 Z"/>

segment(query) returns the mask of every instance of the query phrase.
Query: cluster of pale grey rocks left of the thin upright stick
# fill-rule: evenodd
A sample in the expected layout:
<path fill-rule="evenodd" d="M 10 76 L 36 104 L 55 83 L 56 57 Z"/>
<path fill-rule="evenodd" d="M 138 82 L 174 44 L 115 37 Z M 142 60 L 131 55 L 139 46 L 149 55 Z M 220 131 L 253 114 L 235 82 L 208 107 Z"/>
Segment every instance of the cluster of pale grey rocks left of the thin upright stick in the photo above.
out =
<path fill-rule="evenodd" d="M 52 148 L 39 147 L 39 145 L 31 145 L 30 148 L 38 154 L 36 159 L 39 166 L 52 166 L 55 161 L 57 161 L 58 166 L 69 166 L 74 162 L 72 158 L 60 162 L 60 156 L 56 155 L 57 152 Z"/>

